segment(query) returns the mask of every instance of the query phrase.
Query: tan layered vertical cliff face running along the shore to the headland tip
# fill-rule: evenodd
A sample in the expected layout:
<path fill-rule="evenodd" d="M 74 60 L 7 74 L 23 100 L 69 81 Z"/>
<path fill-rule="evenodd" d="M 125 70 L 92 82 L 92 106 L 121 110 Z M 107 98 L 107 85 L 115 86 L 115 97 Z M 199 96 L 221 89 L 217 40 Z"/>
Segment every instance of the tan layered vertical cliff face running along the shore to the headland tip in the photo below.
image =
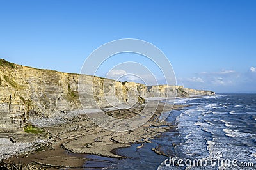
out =
<path fill-rule="evenodd" d="M 90 75 L 40 70 L 0 59 L 0 132 L 22 131 L 31 117 L 48 117 L 54 112 L 82 109 L 78 86 L 90 87 L 92 82 L 93 93 L 90 88 L 85 88 L 82 95 L 80 93 L 83 106 L 88 108 L 95 107 L 95 101 L 99 107 L 143 103 L 147 97 L 167 97 L 167 92 L 178 97 L 214 94 L 183 86 L 145 86 Z"/>

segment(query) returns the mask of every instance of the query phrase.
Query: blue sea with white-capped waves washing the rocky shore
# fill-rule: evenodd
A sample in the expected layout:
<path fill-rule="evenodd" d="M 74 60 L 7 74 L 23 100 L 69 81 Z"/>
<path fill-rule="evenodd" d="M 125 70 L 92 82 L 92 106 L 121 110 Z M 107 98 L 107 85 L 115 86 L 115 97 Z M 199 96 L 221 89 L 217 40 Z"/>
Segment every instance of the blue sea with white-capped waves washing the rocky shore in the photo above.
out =
<path fill-rule="evenodd" d="M 109 160 L 104 169 L 256 169 L 256 94 L 177 98 L 175 103 L 190 106 L 170 113 L 168 132 L 143 148 L 132 144 L 116 150 L 128 158 Z"/>

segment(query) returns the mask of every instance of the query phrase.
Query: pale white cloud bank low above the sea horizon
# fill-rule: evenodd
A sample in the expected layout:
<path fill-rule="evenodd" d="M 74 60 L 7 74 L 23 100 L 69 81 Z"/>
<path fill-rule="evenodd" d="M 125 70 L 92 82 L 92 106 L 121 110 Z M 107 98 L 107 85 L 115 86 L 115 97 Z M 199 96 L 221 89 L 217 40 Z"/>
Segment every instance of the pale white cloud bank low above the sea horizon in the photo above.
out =
<path fill-rule="evenodd" d="M 204 83 L 196 78 L 177 78 L 178 84 L 195 89 L 209 89 L 218 93 L 255 93 L 256 89 L 256 66 L 249 66 L 244 72 L 235 70 L 215 70 L 212 72 L 196 73 Z M 193 82 L 194 81 L 194 82 Z"/>

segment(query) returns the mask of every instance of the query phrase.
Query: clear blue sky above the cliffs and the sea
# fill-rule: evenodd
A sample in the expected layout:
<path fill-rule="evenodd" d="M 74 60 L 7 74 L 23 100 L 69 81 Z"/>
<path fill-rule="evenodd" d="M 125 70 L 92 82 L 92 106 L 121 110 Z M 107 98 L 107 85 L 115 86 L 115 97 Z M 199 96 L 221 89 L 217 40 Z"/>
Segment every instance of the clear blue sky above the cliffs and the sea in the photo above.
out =
<path fill-rule="evenodd" d="M 178 84 L 256 93 L 255 9 L 253 0 L 0 1 L 0 58 L 79 73 L 100 45 L 138 38 L 166 54 Z"/>

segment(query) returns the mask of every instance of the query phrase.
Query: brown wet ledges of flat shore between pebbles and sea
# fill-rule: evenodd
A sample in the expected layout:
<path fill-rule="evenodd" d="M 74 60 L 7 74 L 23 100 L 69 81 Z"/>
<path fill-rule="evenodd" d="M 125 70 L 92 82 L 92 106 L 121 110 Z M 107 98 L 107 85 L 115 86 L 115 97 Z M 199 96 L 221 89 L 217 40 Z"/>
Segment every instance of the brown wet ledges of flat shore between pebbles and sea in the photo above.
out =
<path fill-rule="evenodd" d="M 161 102 L 151 102 L 151 104 L 158 105 L 152 118 L 143 126 L 134 130 L 127 132 L 111 132 L 93 124 L 85 114 L 79 115 L 70 119 L 69 122 L 53 127 L 44 127 L 51 139 L 37 151 L 19 155 L 19 157 L 10 157 L 5 161 L 22 164 L 21 166 L 29 165 L 33 166 L 33 168 L 76 169 L 85 167 L 85 162 L 95 162 L 95 160 L 98 159 L 102 160 L 100 164 L 95 164 L 94 167 L 93 165 L 90 166 L 96 169 L 97 166 L 102 168 L 104 161 L 107 165 L 111 162 L 115 162 L 116 159 L 125 158 L 124 156 L 116 154 L 116 148 L 128 147 L 131 146 L 132 143 L 150 143 L 150 139 L 154 139 L 154 137 L 172 127 L 169 123 L 166 123 L 166 121 L 161 123 L 158 121 L 159 115 L 162 112 L 172 110 L 172 105 L 166 104 L 164 106 Z M 144 106 L 145 105 L 134 105 L 131 109 L 109 110 L 106 111 L 106 114 L 130 118 L 141 111 L 145 111 L 143 110 Z M 186 106 L 188 105 L 174 105 L 173 109 L 180 109 Z M 146 111 L 152 112 L 150 109 Z M 93 157 L 93 155 L 95 156 Z M 104 157 L 112 159 L 104 160 Z"/>

